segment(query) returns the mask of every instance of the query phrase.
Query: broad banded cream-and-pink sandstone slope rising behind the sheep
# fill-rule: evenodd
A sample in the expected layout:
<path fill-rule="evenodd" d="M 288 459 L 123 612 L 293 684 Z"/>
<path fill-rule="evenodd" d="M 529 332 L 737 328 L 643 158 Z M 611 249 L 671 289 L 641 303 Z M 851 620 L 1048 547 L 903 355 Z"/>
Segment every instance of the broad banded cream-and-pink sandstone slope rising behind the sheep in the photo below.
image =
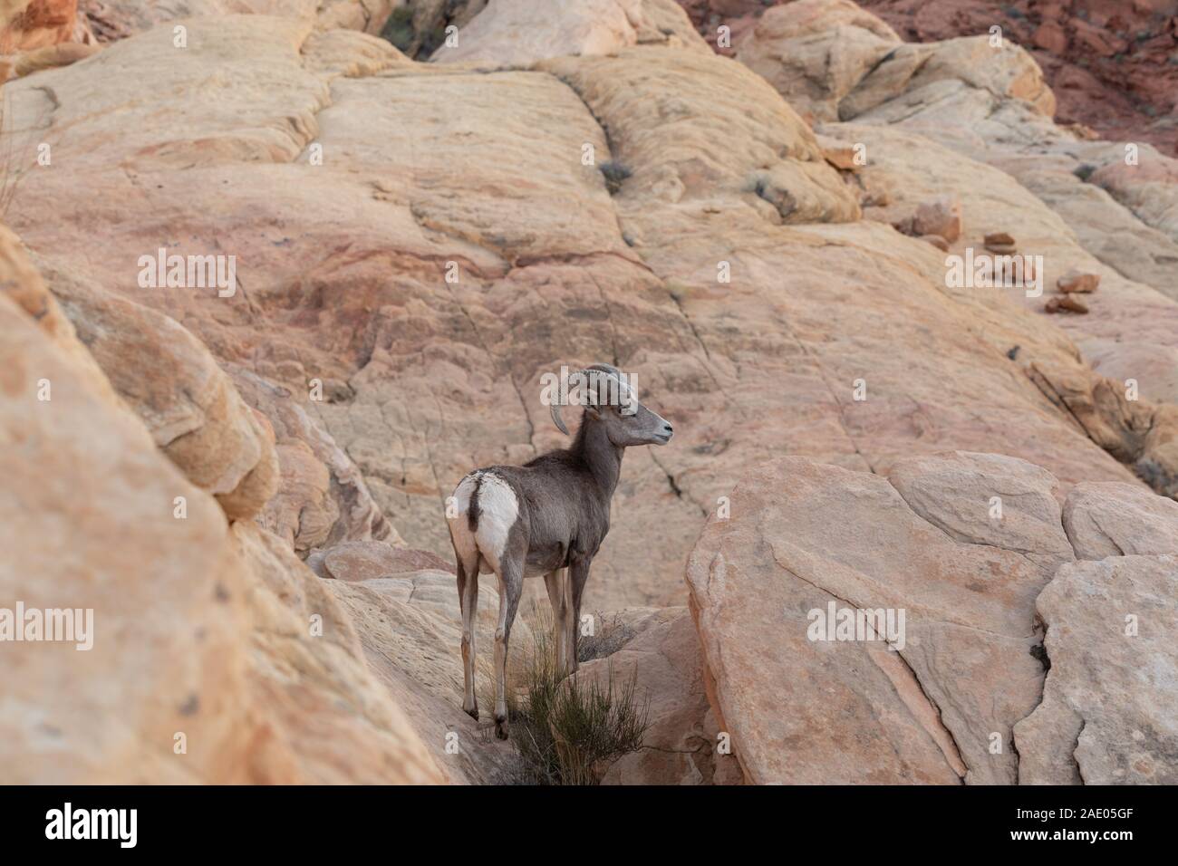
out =
<path fill-rule="evenodd" d="M 86 70 L 38 73 L 58 99 L 45 135 L 70 133 L 54 167 L 21 184 L 15 225 L 47 266 L 106 275 L 110 290 L 166 311 L 221 362 L 297 395 L 415 547 L 450 555 L 441 502 L 471 465 L 557 444 L 534 398 L 540 375 L 602 358 L 636 372 L 686 434 L 660 463 L 628 461 L 589 589 L 601 608 L 676 601 L 669 576 L 701 517 L 743 467 L 781 449 L 881 471 L 912 449 L 1001 450 L 1067 483 L 1130 477 L 1019 372 L 1050 359 L 1091 376 L 1067 341 L 998 292 L 984 313 L 975 297 L 946 298 L 933 247 L 896 247 L 891 230 L 853 222 L 854 186 L 730 60 L 637 45 L 479 74 L 412 65 L 386 42 L 296 19 L 187 27 L 183 53 L 155 28 Z M 234 94 L 232 115 L 224 93 L 185 84 L 210 64 Z M 159 97 L 161 74 L 183 99 Z M 631 98 L 656 74 L 661 101 Z M 72 95 L 104 75 L 111 86 L 85 105 Z M 48 106 L 24 81 L 9 87 L 32 123 Z M 112 139 L 114 115 L 134 132 Z M 615 196 L 582 165 L 585 144 L 596 164 L 629 170 Z M 39 216 L 48 201 L 53 219 Z M 171 218 L 186 226 L 180 254 L 224 249 L 225 226 L 239 226 L 226 250 L 240 263 L 232 297 L 131 282 L 139 256 L 171 243 L 159 229 Z M 124 226 L 113 239 L 111 219 Z M 104 242 L 77 242 L 88 237 Z M 838 336 L 851 332 L 880 338 Z M 303 399 L 312 379 L 345 384 Z M 867 401 L 854 398 L 859 379 Z M 990 428 L 971 421 L 979 411 Z M 302 449 L 283 450 L 298 476 Z M 322 502 L 323 476 L 303 475 Z M 637 556 L 642 573 L 623 574 L 618 563 Z"/>

